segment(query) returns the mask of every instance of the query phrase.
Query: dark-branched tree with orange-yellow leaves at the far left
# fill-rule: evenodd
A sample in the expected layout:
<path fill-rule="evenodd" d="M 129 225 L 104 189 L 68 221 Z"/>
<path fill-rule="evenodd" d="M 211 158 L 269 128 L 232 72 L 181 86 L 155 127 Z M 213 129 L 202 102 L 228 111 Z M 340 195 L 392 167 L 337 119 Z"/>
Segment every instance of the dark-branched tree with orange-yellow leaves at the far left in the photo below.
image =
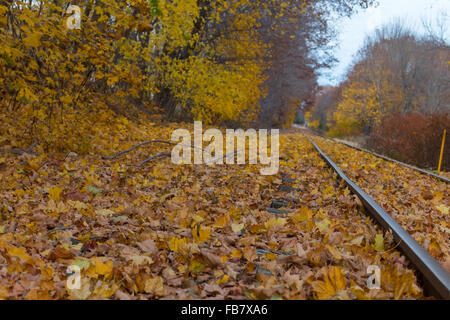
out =
<path fill-rule="evenodd" d="M 3 130 L 87 151 L 91 128 L 113 122 L 109 110 L 140 107 L 153 89 L 148 45 L 159 9 L 155 1 L 78 5 L 79 30 L 66 26 L 65 1 L 0 2 L 0 103 Z"/>

